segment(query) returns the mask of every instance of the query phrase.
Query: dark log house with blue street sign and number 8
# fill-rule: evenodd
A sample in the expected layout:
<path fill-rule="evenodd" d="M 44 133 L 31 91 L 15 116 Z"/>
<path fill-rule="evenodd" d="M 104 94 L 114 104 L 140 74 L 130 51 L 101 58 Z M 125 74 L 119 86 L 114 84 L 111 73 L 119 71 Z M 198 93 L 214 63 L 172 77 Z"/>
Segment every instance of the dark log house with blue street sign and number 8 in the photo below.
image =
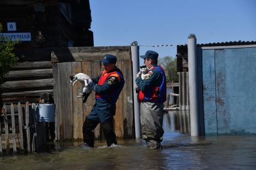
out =
<path fill-rule="evenodd" d="M 1 85 L 1 104 L 49 99 L 52 49 L 94 45 L 89 0 L 3 0 L 0 16 L 2 34 L 21 40 L 15 48 L 19 63 Z"/>

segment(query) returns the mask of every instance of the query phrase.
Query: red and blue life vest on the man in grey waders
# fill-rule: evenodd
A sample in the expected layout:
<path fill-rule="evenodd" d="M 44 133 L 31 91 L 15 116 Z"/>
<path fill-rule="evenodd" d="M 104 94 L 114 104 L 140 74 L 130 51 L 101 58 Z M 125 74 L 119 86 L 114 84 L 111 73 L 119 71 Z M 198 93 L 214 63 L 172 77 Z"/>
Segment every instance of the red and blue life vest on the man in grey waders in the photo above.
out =
<path fill-rule="evenodd" d="M 157 69 L 162 76 L 162 83 L 160 86 L 152 86 L 145 91 L 139 90 L 138 100 L 142 101 L 153 101 L 153 102 L 165 102 L 166 101 L 166 77 L 165 72 L 161 66 L 155 66 L 150 70 Z"/>

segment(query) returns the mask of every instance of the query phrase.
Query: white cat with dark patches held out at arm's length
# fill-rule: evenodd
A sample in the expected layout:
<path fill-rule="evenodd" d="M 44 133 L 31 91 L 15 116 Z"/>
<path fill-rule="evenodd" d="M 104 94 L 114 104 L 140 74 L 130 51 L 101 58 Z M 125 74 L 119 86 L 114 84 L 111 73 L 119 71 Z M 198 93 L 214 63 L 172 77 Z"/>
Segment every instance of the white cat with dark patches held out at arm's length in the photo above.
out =
<path fill-rule="evenodd" d="M 78 98 L 83 98 L 84 103 L 87 101 L 87 98 L 92 91 L 87 81 L 88 78 L 90 77 L 84 73 L 78 73 L 70 76 L 70 82 L 73 82 L 72 86 L 74 86 L 77 81 L 80 81 L 83 84 L 83 93 L 79 93 Z"/>

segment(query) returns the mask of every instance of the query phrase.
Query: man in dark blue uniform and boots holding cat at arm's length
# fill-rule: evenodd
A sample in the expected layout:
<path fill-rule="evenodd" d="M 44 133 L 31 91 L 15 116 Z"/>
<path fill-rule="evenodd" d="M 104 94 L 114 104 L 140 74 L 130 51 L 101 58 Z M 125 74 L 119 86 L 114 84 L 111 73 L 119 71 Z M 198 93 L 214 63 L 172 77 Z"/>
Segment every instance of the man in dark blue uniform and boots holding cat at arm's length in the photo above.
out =
<path fill-rule="evenodd" d="M 94 129 L 100 123 L 106 143 L 109 146 L 117 144 L 114 132 L 113 117 L 115 115 L 115 102 L 124 86 L 124 77 L 120 69 L 115 66 L 117 57 L 106 54 L 102 60 L 102 75 L 88 79 L 88 84 L 96 92 L 96 104 L 86 117 L 83 125 L 84 143 L 94 147 Z"/>

